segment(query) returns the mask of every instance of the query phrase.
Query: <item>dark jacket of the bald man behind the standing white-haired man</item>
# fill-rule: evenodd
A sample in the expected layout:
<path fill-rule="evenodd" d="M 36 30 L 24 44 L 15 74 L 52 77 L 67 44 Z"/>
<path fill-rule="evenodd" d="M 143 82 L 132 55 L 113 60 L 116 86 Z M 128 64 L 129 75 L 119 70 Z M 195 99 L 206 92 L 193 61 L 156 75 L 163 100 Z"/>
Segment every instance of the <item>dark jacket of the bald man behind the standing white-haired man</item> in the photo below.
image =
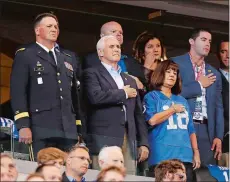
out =
<path fill-rule="evenodd" d="M 145 83 L 143 66 L 137 60 L 133 59 L 130 56 L 126 56 L 124 62 L 125 62 L 128 74 L 139 78 L 139 80 L 142 83 Z M 94 52 L 94 53 L 88 54 L 84 58 L 84 60 L 82 62 L 82 67 L 83 67 L 83 69 L 87 69 L 87 68 L 92 68 L 92 67 L 98 66 L 100 64 L 101 64 L 101 61 L 98 58 L 97 53 Z"/>

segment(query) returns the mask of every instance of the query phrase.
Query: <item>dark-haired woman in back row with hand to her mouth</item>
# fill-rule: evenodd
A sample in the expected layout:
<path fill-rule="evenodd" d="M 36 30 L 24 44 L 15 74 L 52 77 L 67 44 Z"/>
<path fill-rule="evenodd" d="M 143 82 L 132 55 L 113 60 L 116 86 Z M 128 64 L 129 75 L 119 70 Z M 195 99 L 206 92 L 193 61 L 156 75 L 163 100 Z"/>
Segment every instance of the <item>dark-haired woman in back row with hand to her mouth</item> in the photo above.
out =
<path fill-rule="evenodd" d="M 143 66 L 144 84 L 148 90 L 152 72 L 159 62 L 167 59 L 162 40 L 151 32 L 142 32 L 134 42 L 133 57 Z"/>

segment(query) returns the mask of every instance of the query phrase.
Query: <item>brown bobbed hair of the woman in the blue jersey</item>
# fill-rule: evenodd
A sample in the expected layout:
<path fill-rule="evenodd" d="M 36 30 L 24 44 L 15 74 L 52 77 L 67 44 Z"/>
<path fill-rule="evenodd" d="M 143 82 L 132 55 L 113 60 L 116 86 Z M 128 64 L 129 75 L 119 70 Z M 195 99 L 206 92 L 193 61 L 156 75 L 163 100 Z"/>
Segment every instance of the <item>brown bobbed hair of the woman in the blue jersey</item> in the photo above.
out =
<path fill-rule="evenodd" d="M 175 85 L 172 87 L 172 93 L 178 95 L 181 93 L 181 78 L 179 67 L 170 59 L 162 61 L 158 64 L 150 79 L 150 89 L 161 90 L 161 87 L 164 84 L 165 72 L 168 69 L 173 69 L 177 72 L 177 79 Z"/>

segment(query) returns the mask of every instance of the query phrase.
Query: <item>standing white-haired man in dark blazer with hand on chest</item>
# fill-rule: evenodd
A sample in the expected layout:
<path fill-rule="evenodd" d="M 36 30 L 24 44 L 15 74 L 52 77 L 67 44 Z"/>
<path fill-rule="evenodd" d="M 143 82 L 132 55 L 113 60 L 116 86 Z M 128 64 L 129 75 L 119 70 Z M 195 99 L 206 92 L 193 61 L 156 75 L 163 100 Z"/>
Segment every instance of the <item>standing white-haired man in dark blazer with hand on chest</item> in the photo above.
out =
<path fill-rule="evenodd" d="M 101 63 L 83 72 L 83 89 L 89 103 L 90 152 L 98 155 L 105 145 L 122 147 L 125 161 L 129 161 L 125 162 L 127 170 L 135 174 L 136 148 L 139 147 L 139 161 L 148 157 L 147 127 L 136 82 L 121 72 L 121 48 L 114 36 L 103 36 L 97 43 L 97 52 Z"/>

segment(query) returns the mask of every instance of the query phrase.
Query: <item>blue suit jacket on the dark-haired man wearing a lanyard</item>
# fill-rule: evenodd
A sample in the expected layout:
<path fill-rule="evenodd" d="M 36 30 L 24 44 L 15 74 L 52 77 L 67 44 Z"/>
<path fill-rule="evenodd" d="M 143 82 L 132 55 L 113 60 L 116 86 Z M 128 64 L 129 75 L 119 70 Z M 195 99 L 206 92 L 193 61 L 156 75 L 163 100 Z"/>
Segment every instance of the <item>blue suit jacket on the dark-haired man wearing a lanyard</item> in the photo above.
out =
<path fill-rule="evenodd" d="M 181 95 L 187 99 L 191 112 L 195 110 L 195 100 L 197 96 L 201 96 L 201 88 L 199 82 L 195 80 L 195 73 L 190 61 L 189 54 L 174 57 L 172 60 L 179 65 L 180 75 L 182 79 Z M 224 134 L 224 117 L 222 103 L 222 81 L 219 71 L 205 63 L 205 73 L 213 73 L 216 81 L 206 88 L 206 102 L 208 114 L 208 132 L 210 142 L 214 138 L 223 140 Z"/>

